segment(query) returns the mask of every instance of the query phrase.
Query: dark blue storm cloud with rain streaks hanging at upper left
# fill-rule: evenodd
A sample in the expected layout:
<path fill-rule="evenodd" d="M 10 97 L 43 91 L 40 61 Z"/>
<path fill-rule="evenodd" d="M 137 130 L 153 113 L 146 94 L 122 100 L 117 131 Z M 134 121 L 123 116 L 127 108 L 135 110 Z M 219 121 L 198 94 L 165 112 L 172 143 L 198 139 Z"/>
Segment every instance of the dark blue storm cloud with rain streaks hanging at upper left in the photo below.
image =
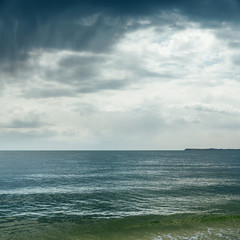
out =
<path fill-rule="evenodd" d="M 239 21 L 239 9 L 239 0 L 0 1 L 0 59 L 25 60 L 34 48 L 106 51 L 127 19 L 161 11 L 219 23 Z"/>

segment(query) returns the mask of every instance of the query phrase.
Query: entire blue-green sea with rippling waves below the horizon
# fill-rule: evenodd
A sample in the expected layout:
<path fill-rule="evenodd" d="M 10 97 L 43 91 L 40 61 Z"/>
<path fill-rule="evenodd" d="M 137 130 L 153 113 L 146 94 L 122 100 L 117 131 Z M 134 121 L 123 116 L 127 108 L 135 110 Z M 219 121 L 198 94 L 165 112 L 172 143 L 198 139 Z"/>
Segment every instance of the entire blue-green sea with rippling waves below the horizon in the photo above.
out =
<path fill-rule="evenodd" d="M 1 151 L 0 240 L 240 239 L 240 151 Z"/>

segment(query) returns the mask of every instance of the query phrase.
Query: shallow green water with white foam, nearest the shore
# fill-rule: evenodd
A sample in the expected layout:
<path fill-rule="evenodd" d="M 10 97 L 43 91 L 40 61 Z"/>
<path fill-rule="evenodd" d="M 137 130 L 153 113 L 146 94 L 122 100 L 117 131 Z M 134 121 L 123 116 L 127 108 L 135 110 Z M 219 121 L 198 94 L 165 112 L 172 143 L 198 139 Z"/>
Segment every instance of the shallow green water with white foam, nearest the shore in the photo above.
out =
<path fill-rule="evenodd" d="M 8 219 L 2 240 L 239 239 L 240 215 L 134 216 L 118 219 L 79 217 Z M 17 220 L 17 221 L 16 221 Z M 11 231 L 10 231 L 11 229 Z"/>

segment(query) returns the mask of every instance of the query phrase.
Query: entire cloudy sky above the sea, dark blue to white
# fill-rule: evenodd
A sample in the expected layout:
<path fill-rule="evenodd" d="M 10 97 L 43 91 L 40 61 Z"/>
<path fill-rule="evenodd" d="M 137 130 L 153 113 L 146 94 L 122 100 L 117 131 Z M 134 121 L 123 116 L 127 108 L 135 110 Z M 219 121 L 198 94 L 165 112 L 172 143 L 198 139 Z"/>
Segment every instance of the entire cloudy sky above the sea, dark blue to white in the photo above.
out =
<path fill-rule="evenodd" d="M 0 150 L 240 148 L 239 0 L 0 0 Z"/>

